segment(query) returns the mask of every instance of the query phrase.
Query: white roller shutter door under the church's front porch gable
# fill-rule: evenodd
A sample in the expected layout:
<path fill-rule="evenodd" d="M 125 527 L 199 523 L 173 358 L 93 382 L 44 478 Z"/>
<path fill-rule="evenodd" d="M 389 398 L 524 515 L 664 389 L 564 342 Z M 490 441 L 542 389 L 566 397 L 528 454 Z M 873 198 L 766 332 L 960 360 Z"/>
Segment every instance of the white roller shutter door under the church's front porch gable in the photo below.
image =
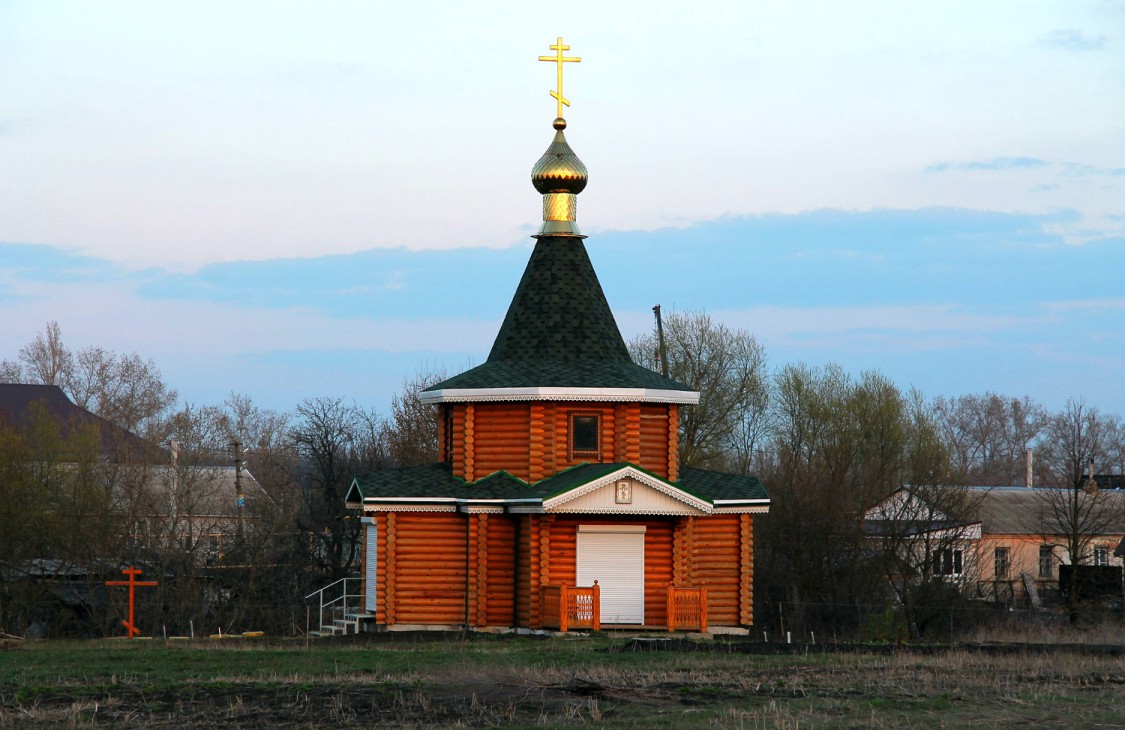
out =
<path fill-rule="evenodd" d="M 601 587 L 602 623 L 645 623 L 645 528 L 579 525 L 576 585 Z"/>

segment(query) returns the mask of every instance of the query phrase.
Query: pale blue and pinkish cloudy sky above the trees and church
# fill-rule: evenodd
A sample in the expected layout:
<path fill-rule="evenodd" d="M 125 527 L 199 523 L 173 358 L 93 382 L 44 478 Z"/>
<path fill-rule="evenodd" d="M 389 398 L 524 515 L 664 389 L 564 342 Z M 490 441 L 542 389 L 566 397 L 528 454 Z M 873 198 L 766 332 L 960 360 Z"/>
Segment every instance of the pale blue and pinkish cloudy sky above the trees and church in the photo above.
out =
<path fill-rule="evenodd" d="M 1125 416 L 1125 3 L 0 2 L 0 359 L 386 411 L 486 357 L 557 36 L 626 337 Z"/>

